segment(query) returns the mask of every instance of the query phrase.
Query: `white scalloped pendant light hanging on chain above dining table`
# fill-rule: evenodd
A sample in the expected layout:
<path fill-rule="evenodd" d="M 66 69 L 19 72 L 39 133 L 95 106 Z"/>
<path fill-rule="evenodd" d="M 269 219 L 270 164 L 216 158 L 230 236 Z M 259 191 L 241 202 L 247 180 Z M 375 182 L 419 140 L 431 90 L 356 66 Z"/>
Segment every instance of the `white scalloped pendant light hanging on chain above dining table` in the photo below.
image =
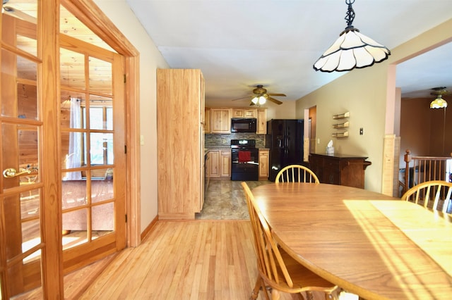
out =
<path fill-rule="evenodd" d="M 314 70 L 331 73 L 366 68 L 386 60 L 391 55 L 388 48 L 362 35 L 357 28 L 353 27 L 352 23 L 355 19 L 353 3 L 355 0 L 345 0 L 345 4 L 348 5 L 347 15 L 345 15 L 347 27 L 314 63 Z"/>

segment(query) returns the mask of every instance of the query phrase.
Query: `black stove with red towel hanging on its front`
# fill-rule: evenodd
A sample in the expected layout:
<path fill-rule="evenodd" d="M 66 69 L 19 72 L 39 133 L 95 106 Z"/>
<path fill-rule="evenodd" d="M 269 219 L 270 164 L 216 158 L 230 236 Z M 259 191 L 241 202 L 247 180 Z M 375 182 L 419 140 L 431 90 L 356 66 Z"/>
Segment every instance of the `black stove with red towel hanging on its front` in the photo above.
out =
<path fill-rule="evenodd" d="M 231 180 L 259 180 L 259 149 L 255 139 L 232 139 L 231 154 Z"/>

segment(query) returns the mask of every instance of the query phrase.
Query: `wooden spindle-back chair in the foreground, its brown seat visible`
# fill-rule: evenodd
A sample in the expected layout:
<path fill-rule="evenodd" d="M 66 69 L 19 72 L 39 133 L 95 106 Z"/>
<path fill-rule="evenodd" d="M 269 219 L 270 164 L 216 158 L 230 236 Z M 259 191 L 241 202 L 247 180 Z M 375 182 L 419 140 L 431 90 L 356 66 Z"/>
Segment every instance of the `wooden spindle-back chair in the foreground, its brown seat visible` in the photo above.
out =
<path fill-rule="evenodd" d="M 267 288 L 271 289 L 272 300 L 280 299 L 280 292 L 306 292 L 307 299 L 313 299 L 313 291 L 324 292 L 325 299 L 335 299 L 340 288 L 305 268 L 278 246 L 246 182 L 242 182 L 242 187 L 248 204 L 258 268 L 258 278 L 250 299 L 257 299 L 260 290 L 266 293 L 268 299 Z"/>

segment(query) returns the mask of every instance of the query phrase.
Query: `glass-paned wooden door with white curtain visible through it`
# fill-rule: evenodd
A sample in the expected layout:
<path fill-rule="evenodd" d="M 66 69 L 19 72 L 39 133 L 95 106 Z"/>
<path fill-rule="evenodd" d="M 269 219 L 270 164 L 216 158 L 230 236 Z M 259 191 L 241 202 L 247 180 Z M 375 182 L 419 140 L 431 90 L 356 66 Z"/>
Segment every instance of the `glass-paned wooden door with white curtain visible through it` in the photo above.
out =
<path fill-rule="evenodd" d="M 60 41 L 62 246 L 68 272 L 125 246 L 124 63 L 93 44 L 66 35 Z"/>

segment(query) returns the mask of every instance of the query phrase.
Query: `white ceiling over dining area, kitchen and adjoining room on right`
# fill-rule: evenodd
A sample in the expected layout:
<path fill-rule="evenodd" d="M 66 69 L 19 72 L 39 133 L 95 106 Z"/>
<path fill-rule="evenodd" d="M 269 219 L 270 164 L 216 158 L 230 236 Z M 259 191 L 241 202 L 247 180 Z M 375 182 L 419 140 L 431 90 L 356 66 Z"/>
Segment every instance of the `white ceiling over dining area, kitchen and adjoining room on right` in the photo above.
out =
<path fill-rule="evenodd" d="M 293 101 L 343 75 L 312 65 L 345 29 L 345 1 L 126 1 L 171 68 L 201 69 L 206 100 L 237 99 L 263 85 Z M 388 49 L 452 18 L 451 0 L 357 0 L 353 8 L 353 25 Z M 397 86 L 403 96 L 452 89 L 451 70 L 449 43 L 400 64 Z"/>

